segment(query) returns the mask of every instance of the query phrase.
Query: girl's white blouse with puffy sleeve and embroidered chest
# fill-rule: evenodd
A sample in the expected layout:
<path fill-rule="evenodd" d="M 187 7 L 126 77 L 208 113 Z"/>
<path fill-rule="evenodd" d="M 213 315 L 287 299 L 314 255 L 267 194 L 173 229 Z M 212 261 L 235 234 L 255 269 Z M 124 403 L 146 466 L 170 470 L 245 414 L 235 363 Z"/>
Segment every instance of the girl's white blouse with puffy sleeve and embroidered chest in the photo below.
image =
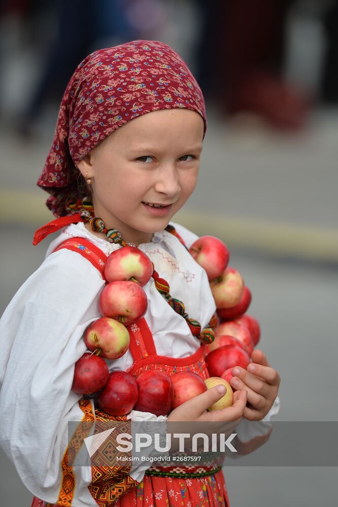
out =
<path fill-rule="evenodd" d="M 189 247 L 197 236 L 173 224 Z M 70 237 L 84 237 L 106 255 L 120 248 L 97 238 L 83 223 L 66 227 L 50 244 L 45 261 L 16 293 L 0 321 L 0 444 L 16 466 L 25 486 L 39 498 L 56 502 L 61 484 L 67 423 L 80 421 L 81 394 L 71 390 L 76 361 L 87 350 L 83 333 L 100 317 L 98 298 L 105 281 L 78 253 L 54 249 Z M 167 231 L 139 245 L 154 263 L 159 276 L 170 284 L 173 297 L 182 300 L 191 318 L 206 327 L 215 311 L 208 277 L 177 237 Z M 145 319 L 159 355 L 187 357 L 200 346 L 183 317 L 164 300 L 150 280 Z M 127 351 L 116 360 L 106 359 L 109 370 L 127 370 L 133 362 Z M 276 412 L 276 410 L 275 410 Z M 142 413 L 132 411 L 131 420 Z M 144 418 L 156 417 L 144 413 Z M 87 486 L 91 467 L 75 467 L 73 505 L 94 506 Z M 132 468 L 142 480 L 145 467 Z"/>

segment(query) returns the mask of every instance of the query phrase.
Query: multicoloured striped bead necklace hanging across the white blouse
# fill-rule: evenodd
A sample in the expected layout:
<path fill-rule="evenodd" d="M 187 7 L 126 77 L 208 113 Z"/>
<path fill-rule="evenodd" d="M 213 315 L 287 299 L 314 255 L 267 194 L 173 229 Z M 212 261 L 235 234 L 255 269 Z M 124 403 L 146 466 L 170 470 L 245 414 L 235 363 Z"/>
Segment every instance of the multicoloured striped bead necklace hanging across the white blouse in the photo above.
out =
<path fill-rule="evenodd" d="M 128 243 L 125 241 L 117 229 L 108 229 L 105 222 L 101 218 L 94 216 L 94 207 L 87 197 L 83 199 L 72 199 L 71 201 L 68 201 L 66 204 L 66 209 L 69 211 L 78 210 L 80 212 L 82 220 L 85 223 L 89 223 L 94 232 L 101 232 L 105 234 L 110 243 L 119 244 L 121 246 L 133 246 L 137 248 L 136 244 Z M 165 230 L 179 238 L 181 243 L 184 244 L 173 226 L 168 225 Z M 170 295 L 170 285 L 166 280 L 164 280 L 164 278 L 159 277 L 159 274 L 155 268 L 151 276 L 155 282 L 157 291 L 161 294 L 161 296 L 163 296 L 163 298 L 173 308 L 173 310 L 185 319 L 189 326 L 191 334 L 198 337 L 203 343 L 213 342 L 215 339 L 215 332 L 213 331 L 213 328 L 216 328 L 218 324 L 216 314 L 212 316 L 210 322 L 207 324 L 207 327 L 201 329 L 201 325 L 198 320 L 190 318 L 188 313 L 186 313 L 183 301 L 173 298 Z"/>

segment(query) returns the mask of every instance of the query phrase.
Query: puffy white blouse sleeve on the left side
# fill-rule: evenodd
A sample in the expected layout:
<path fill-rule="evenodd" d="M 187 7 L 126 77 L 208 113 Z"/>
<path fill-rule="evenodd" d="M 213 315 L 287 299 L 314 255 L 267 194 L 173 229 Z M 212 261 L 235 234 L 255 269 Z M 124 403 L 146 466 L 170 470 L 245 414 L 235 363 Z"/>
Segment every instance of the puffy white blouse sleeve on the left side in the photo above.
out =
<path fill-rule="evenodd" d="M 71 390 L 74 365 L 86 351 L 82 335 L 98 316 L 103 285 L 86 259 L 60 250 L 22 285 L 0 321 L 0 444 L 28 490 L 47 502 L 66 494 L 67 423 L 84 416 L 82 396 Z M 91 467 L 76 468 L 69 504 L 97 505 L 88 490 Z"/>

